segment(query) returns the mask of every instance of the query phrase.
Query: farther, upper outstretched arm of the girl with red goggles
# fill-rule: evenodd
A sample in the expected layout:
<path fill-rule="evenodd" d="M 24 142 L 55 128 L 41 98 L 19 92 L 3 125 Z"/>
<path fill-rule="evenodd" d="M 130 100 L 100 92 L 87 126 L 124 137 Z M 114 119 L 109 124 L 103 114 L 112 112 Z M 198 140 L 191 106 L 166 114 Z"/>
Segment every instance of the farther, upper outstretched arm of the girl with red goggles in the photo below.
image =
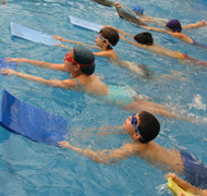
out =
<path fill-rule="evenodd" d="M 8 62 L 16 62 L 16 63 L 31 63 L 35 64 L 36 66 L 45 68 L 45 69 L 50 69 L 50 70 L 59 70 L 59 71 L 64 71 L 64 64 L 56 64 L 56 63 L 49 63 L 45 61 L 35 61 L 32 59 L 25 59 L 25 58 L 5 58 Z"/>

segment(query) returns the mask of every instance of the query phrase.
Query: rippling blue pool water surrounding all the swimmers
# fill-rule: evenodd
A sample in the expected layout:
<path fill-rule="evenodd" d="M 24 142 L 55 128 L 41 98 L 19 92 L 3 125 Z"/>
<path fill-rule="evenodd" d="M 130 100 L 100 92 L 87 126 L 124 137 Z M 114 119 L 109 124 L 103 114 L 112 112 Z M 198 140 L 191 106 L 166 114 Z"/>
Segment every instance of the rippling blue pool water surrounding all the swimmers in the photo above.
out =
<path fill-rule="evenodd" d="M 72 40 L 94 45 L 96 33 L 73 26 L 68 15 L 74 15 L 99 24 L 109 24 L 130 34 L 142 28 L 120 19 L 114 8 L 97 4 L 89 0 L 8 0 L 0 7 L 0 57 L 22 57 L 53 63 L 63 62 L 68 52 L 64 48 L 50 47 L 20 38 L 11 38 L 10 22 L 60 35 Z M 121 3 L 132 7 L 135 0 Z M 179 19 L 182 24 L 206 20 L 206 2 L 183 0 L 139 1 L 145 14 Z M 199 42 L 207 44 L 207 27 L 185 32 Z M 196 48 L 169 35 L 153 33 L 155 42 L 194 59 L 207 62 L 206 50 Z M 65 44 L 69 47 L 74 45 Z M 129 70 L 96 58 L 96 74 L 106 81 L 123 82 L 151 101 L 178 108 L 198 123 L 166 118 L 156 142 L 167 148 L 182 147 L 207 164 L 206 78 L 207 68 L 184 64 L 174 59 L 158 57 L 148 51 L 120 41 L 114 50 L 120 59 L 143 63 L 151 70 L 157 79 L 148 79 Z M 93 51 L 95 51 L 93 49 Z M 26 63 L 17 70 L 45 78 L 68 78 L 66 73 L 39 69 Z M 171 72 L 173 71 L 173 72 Z M 174 78 L 161 78 L 161 75 Z M 68 139 L 77 147 L 111 149 L 130 140 L 127 135 L 98 137 L 97 127 L 121 125 L 131 115 L 105 102 L 81 93 L 46 87 L 11 76 L 0 76 L 0 90 L 7 89 L 20 100 L 61 115 L 69 121 Z M 166 183 L 166 171 L 158 170 L 137 157 L 113 166 L 97 164 L 71 150 L 32 142 L 0 127 L 0 194 L 1 195 L 157 195 L 157 186 Z M 167 192 L 163 195 L 170 195 Z"/>

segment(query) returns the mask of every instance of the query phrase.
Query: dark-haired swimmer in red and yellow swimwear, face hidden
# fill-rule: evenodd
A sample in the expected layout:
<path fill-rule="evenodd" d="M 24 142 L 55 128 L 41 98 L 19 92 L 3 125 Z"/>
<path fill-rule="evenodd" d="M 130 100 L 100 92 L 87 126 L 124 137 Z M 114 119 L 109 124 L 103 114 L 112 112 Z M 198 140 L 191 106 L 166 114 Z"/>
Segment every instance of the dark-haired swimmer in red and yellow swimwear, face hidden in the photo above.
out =
<path fill-rule="evenodd" d="M 155 44 L 151 34 L 148 32 L 144 32 L 144 33 L 141 33 L 141 34 L 133 36 L 133 35 L 130 35 L 130 34 L 123 32 L 123 30 L 120 30 L 118 28 L 114 28 L 114 29 L 118 30 L 120 34 L 123 34 L 123 35 L 126 35 L 131 38 L 134 38 L 135 41 L 131 41 L 131 40 L 126 39 L 125 37 L 123 37 L 122 35 L 120 35 L 121 39 L 123 39 L 123 40 L 125 40 L 125 41 L 127 41 L 127 42 L 130 42 L 136 47 L 147 49 L 147 50 L 149 50 L 156 54 L 159 54 L 159 56 L 166 56 L 166 57 L 180 59 L 180 60 L 191 60 L 193 63 L 199 63 L 204 66 L 207 66 L 207 62 L 202 62 L 202 61 L 198 61 L 196 59 L 192 59 L 185 53 L 175 52 L 173 50 L 169 50 L 167 48 L 163 48 L 163 47 Z"/>

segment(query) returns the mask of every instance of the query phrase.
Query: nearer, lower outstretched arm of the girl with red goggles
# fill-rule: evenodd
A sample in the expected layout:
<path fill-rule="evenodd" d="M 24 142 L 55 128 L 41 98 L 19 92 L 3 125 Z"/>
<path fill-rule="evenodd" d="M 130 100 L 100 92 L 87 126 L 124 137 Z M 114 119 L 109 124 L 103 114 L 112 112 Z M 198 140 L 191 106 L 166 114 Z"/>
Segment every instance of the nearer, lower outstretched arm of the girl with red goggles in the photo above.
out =
<path fill-rule="evenodd" d="M 1 74 L 4 74 L 7 76 L 11 75 L 16 75 L 17 77 L 22 77 L 27 81 L 36 82 L 36 83 L 41 83 L 47 86 L 52 86 L 52 87 L 60 87 L 63 89 L 70 89 L 75 86 L 78 86 L 75 81 L 73 79 L 65 79 L 65 81 L 58 81 L 58 79 L 45 79 L 42 77 L 37 77 L 34 75 L 16 72 L 11 69 L 1 69 Z"/>

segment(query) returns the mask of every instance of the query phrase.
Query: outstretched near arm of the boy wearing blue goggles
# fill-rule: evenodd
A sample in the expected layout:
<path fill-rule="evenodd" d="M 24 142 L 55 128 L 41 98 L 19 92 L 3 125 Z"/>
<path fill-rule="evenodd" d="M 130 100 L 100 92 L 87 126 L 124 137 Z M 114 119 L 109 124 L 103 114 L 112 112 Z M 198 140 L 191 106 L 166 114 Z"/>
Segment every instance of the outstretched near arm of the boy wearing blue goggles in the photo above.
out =
<path fill-rule="evenodd" d="M 104 149 L 99 151 L 94 151 L 90 149 L 81 149 L 72 146 L 66 140 L 60 142 L 58 144 L 61 148 L 70 148 L 71 150 L 76 151 L 77 154 L 81 154 L 97 163 L 106 163 L 106 164 L 115 163 L 118 160 L 126 159 L 127 157 L 133 156 L 132 147 L 131 145 L 129 146 L 129 144 L 125 144 L 119 149 L 114 150 Z"/>

